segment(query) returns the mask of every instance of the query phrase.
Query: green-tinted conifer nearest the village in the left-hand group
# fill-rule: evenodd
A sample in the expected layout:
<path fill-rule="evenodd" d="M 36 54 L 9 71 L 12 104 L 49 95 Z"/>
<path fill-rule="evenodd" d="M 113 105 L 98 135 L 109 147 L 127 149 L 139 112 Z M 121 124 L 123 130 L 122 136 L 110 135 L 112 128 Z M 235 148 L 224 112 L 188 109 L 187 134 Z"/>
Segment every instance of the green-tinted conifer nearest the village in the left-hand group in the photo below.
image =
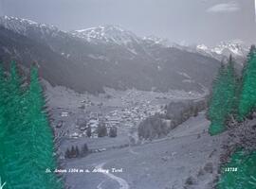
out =
<path fill-rule="evenodd" d="M 30 71 L 30 83 L 23 101 L 25 123 L 23 128 L 27 141 L 27 167 L 30 167 L 29 188 L 59 189 L 61 183 L 54 173 L 46 173 L 46 168 L 54 170 L 56 162 L 53 145 L 53 131 L 46 114 L 46 102 L 35 67 Z M 27 177 L 28 178 L 28 177 Z"/>

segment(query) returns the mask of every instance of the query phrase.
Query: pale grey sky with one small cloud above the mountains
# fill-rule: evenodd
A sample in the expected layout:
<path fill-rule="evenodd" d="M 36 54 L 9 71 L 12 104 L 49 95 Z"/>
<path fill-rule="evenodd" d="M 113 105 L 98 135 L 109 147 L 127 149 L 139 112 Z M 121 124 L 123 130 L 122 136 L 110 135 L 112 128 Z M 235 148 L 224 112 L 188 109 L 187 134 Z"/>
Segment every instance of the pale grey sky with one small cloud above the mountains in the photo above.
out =
<path fill-rule="evenodd" d="M 254 0 L 0 0 L 0 15 L 64 30 L 119 25 L 176 43 L 256 39 Z"/>

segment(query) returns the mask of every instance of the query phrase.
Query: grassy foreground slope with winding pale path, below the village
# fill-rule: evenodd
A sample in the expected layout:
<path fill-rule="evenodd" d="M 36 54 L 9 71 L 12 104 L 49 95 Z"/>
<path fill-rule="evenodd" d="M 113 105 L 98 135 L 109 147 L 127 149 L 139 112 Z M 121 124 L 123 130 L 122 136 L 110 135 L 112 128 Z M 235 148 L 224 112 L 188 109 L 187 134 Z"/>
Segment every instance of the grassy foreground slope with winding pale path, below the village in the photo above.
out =
<path fill-rule="evenodd" d="M 181 189 L 187 182 L 187 188 L 210 189 L 226 136 L 210 137 L 208 127 L 200 113 L 167 138 L 68 161 L 66 169 L 88 169 L 90 173 L 67 173 L 66 183 L 72 189 Z M 101 172 L 93 173 L 95 168 Z"/>

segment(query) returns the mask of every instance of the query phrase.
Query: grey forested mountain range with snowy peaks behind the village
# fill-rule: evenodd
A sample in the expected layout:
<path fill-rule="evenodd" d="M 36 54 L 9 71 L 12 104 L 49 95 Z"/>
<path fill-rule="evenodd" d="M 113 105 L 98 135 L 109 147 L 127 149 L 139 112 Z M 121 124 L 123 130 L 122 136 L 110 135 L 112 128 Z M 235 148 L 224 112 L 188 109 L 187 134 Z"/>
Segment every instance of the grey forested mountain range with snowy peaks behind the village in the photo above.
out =
<path fill-rule="evenodd" d="M 35 61 L 49 83 L 78 92 L 101 93 L 104 87 L 202 92 L 210 87 L 220 56 L 229 55 L 226 49 L 239 56 L 247 52 L 235 44 L 226 46 L 213 51 L 204 45 L 140 38 L 120 26 L 65 32 L 27 19 L 0 17 L 0 60 L 17 60 L 25 71 Z"/>

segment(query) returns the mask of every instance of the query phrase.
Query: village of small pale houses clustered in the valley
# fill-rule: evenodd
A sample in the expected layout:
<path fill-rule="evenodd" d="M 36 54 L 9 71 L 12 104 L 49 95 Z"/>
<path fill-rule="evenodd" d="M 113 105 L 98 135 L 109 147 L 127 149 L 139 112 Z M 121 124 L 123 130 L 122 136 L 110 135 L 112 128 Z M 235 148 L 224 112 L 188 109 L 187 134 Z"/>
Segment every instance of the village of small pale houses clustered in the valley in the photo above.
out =
<path fill-rule="evenodd" d="M 131 97 L 131 98 L 130 98 Z M 103 124 L 107 131 L 111 128 L 136 128 L 137 125 L 145 118 L 155 114 L 156 112 L 163 112 L 160 105 L 154 105 L 151 101 L 146 99 L 137 99 L 132 96 L 121 98 L 121 103 L 124 106 L 116 107 L 115 110 L 109 112 L 101 112 L 101 109 L 95 109 L 94 112 L 86 112 L 82 118 L 76 118 L 74 130 L 68 131 L 67 135 L 70 138 L 79 138 L 87 136 L 87 129 L 90 129 L 90 137 L 98 137 L 98 128 Z M 95 107 L 97 104 L 92 104 L 90 100 L 82 101 L 86 104 L 85 107 Z M 102 104 L 101 104 L 102 106 Z M 92 109 L 93 110 L 93 109 Z M 62 117 L 70 116 L 68 112 L 61 112 Z M 62 124 L 57 125 L 61 128 Z"/>

